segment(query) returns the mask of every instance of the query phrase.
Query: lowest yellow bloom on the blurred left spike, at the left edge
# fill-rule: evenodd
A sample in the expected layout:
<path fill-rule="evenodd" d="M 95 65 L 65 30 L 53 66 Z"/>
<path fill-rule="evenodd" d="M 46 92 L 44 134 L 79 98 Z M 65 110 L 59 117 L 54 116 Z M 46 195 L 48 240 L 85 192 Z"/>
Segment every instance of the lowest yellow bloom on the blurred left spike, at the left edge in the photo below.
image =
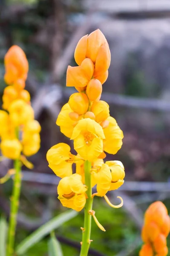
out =
<path fill-rule="evenodd" d="M 4 157 L 8 157 L 10 159 L 18 159 L 20 157 L 20 152 L 22 150 L 22 146 L 19 140 L 2 140 L 0 143 L 0 149 Z"/>

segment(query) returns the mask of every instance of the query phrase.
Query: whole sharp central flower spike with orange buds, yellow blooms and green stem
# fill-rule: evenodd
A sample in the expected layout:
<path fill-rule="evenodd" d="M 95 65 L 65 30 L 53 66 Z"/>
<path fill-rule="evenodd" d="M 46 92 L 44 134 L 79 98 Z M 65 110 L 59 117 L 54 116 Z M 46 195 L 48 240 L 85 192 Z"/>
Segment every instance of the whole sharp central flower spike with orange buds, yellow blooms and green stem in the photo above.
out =
<path fill-rule="evenodd" d="M 58 199 L 64 207 L 81 211 L 84 208 L 84 227 L 81 241 L 81 256 L 87 256 L 90 246 L 91 219 L 105 231 L 92 209 L 94 196 L 104 197 L 113 205 L 107 192 L 118 189 L 124 183 L 124 166 L 120 161 L 104 163 L 106 153 L 116 154 L 121 148 L 123 132 L 109 114 L 109 105 L 100 100 L 102 84 L 107 79 L 110 65 L 110 50 L 106 38 L 97 29 L 80 39 L 75 49 L 77 67 L 68 66 L 66 86 L 78 92 L 69 97 L 58 115 L 56 124 L 61 132 L 73 140 L 77 155 L 70 152 L 69 145 L 59 143 L 47 152 L 49 167 L 61 177 L 58 184 Z M 76 173 L 72 173 L 72 164 Z M 92 187 L 96 192 L 92 195 Z"/>

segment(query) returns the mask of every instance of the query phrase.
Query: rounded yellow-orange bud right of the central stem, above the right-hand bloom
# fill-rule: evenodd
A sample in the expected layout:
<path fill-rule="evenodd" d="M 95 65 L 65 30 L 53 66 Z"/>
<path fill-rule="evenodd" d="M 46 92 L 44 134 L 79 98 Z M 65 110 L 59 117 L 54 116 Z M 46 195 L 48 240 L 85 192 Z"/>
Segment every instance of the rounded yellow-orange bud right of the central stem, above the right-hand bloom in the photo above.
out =
<path fill-rule="evenodd" d="M 95 114 L 96 122 L 102 122 L 109 116 L 109 105 L 103 100 L 93 102 L 91 111 Z"/>

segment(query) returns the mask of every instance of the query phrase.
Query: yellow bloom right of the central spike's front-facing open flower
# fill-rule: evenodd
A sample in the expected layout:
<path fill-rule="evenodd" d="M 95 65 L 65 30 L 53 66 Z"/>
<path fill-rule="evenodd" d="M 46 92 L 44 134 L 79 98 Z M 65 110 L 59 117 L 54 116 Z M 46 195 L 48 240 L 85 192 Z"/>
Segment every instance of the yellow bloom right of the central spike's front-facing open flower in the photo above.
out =
<path fill-rule="evenodd" d="M 122 146 L 124 135 L 113 117 L 109 116 L 107 121 L 109 121 L 109 126 L 104 128 L 104 135 L 106 137 L 104 151 L 109 154 L 116 154 Z"/>

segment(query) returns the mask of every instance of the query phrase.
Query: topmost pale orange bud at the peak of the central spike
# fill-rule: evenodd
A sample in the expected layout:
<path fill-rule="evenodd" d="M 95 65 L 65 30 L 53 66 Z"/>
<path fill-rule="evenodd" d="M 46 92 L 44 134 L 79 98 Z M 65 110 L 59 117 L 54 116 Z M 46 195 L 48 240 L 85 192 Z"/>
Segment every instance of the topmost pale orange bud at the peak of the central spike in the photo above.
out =
<path fill-rule="evenodd" d="M 99 49 L 105 42 L 107 42 L 107 40 L 100 29 L 97 29 L 89 34 L 87 37 L 86 57 L 90 58 L 92 62 L 95 63 Z"/>

